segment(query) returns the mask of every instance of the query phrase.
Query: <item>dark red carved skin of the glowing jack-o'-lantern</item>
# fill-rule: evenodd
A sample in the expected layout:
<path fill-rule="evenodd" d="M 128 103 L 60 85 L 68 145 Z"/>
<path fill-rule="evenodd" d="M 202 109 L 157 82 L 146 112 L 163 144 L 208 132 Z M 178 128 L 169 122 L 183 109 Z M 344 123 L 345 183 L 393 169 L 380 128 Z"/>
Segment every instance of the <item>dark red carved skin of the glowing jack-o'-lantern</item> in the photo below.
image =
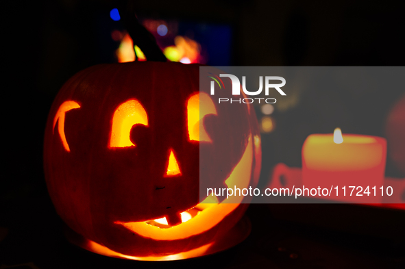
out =
<path fill-rule="evenodd" d="M 230 81 L 224 83 L 231 88 Z M 259 142 L 252 146 L 251 173 L 245 181 L 256 186 L 261 153 L 253 107 L 234 105 L 230 110 L 216 104 L 217 114 L 203 119 L 212 141 L 193 141 L 187 102 L 198 92 L 199 65 L 173 62 L 101 64 L 62 86 L 47 120 L 44 166 L 49 195 L 71 229 L 113 251 L 147 257 L 204 246 L 238 222 L 247 204 L 238 205 L 210 229 L 170 240 L 141 235 L 117 223 L 170 219 L 195 207 L 200 162 L 206 168 L 203 176 L 224 186 L 254 138 Z M 129 136 L 135 146 L 110 147 L 114 112 L 130 99 L 143 106 L 148 125 L 132 127 Z M 56 120 L 62 120 L 56 114 L 66 101 L 79 105 L 64 113 L 62 131 L 69 151 L 56 127 Z M 181 175 L 165 177 L 171 151 Z M 200 159 L 200 151 L 210 158 Z M 200 221 L 204 226 L 211 220 Z"/>

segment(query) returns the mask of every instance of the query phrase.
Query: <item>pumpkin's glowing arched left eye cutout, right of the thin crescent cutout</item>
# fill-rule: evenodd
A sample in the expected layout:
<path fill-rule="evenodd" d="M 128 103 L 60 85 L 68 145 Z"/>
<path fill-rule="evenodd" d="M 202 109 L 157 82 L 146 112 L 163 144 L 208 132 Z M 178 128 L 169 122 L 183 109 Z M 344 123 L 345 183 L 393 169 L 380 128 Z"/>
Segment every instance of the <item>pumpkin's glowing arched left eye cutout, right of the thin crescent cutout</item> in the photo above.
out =
<path fill-rule="evenodd" d="M 130 99 L 119 105 L 114 112 L 110 147 L 135 146 L 130 140 L 130 131 L 136 124 L 147 126 L 147 114 L 136 99 Z"/>

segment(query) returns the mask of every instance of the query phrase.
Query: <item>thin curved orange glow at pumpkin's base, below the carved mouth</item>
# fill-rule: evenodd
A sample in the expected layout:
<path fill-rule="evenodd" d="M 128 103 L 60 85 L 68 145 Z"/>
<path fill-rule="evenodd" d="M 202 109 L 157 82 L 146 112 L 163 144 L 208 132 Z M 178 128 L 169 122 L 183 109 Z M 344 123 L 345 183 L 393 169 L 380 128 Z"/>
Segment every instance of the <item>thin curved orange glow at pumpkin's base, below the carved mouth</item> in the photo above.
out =
<path fill-rule="evenodd" d="M 200 246 L 199 248 L 192 249 L 191 251 L 185 251 L 185 252 L 177 253 L 177 254 L 173 254 L 173 255 L 148 256 L 148 257 L 135 257 L 135 256 L 130 256 L 130 255 L 123 255 L 116 251 L 112 251 L 110 248 L 107 248 L 106 246 L 97 244 L 96 242 L 91 241 L 91 240 L 86 240 L 83 243 L 82 247 L 87 249 L 88 251 L 92 251 L 92 252 L 100 254 L 100 255 L 114 257 L 114 258 L 134 259 L 137 261 L 175 261 L 177 259 L 189 259 L 189 258 L 193 258 L 193 257 L 202 256 L 208 251 L 208 248 L 210 248 L 210 246 L 212 244 L 213 243 L 206 244 L 204 246 Z"/>

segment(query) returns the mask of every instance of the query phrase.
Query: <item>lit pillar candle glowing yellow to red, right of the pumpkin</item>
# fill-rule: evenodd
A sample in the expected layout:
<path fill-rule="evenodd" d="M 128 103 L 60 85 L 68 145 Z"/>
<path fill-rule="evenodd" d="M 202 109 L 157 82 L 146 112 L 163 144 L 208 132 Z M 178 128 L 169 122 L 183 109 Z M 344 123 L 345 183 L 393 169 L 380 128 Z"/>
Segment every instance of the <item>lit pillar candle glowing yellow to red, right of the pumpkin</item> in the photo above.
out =
<path fill-rule="evenodd" d="M 306 138 L 302 147 L 302 182 L 305 188 L 332 190 L 330 196 L 317 198 L 380 203 L 378 191 L 384 183 L 385 162 L 384 138 L 342 135 L 341 129 L 336 128 L 334 134 L 312 134 Z M 355 187 L 353 192 L 350 186 Z"/>

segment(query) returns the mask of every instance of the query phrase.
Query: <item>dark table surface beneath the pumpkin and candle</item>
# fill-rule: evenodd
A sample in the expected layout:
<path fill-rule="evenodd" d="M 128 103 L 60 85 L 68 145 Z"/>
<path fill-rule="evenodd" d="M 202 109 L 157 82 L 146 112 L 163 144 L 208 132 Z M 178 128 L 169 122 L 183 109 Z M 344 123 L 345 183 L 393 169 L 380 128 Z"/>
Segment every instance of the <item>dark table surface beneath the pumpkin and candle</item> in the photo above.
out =
<path fill-rule="evenodd" d="M 66 242 L 63 222 L 47 194 L 2 202 L 1 269 L 405 268 L 405 236 L 400 232 L 405 214 L 393 209 L 250 205 L 246 215 L 252 231 L 238 246 L 207 257 L 147 262 L 103 257 Z"/>

